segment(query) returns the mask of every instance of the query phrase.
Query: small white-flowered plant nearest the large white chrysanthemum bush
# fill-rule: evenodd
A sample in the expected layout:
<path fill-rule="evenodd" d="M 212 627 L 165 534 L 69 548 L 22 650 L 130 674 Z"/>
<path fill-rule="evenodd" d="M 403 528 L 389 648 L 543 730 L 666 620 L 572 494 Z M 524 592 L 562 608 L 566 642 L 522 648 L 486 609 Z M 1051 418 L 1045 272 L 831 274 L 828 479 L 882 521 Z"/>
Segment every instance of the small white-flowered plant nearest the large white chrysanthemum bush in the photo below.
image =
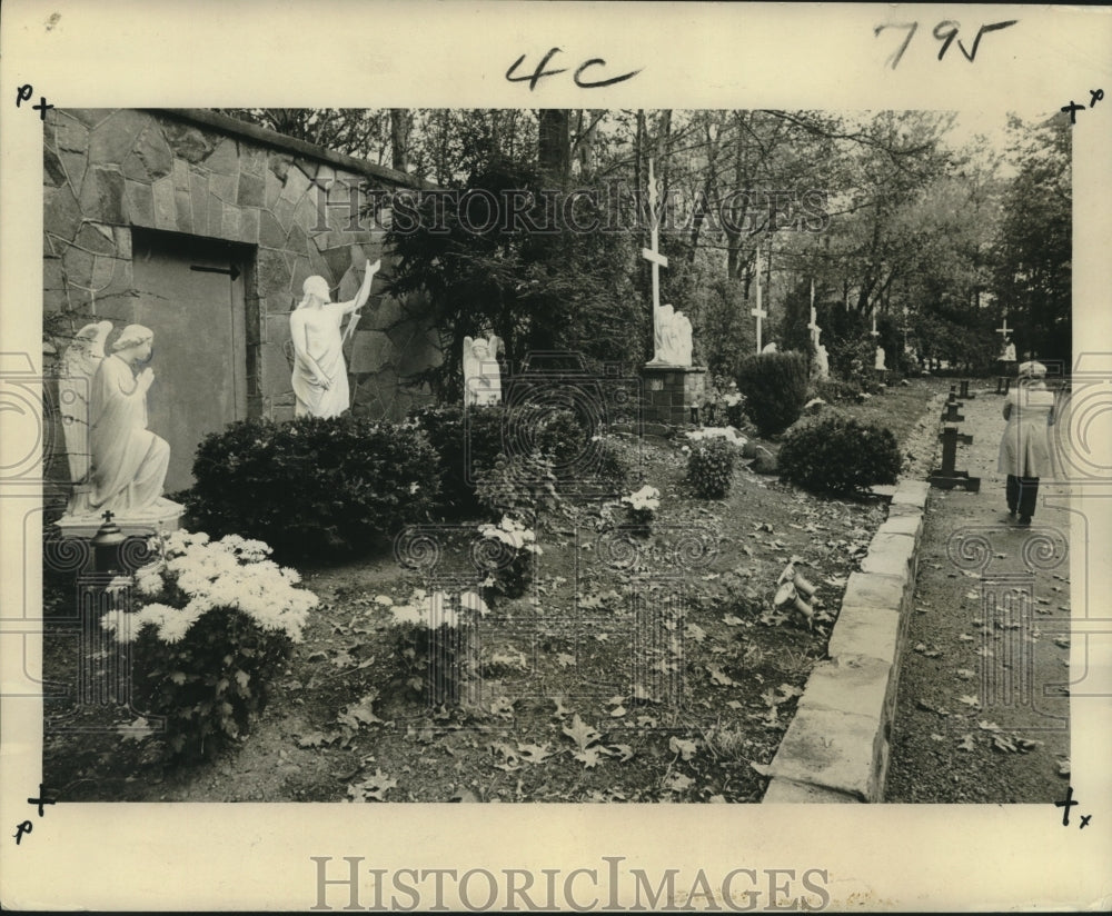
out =
<path fill-rule="evenodd" d="M 477 703 L 475 624 L 489 613 L 483 597 L 474 590 L 429 594 L 418 588 L 404 605 L 386 596 L 376 601 L 390 609 L 409 686 L 424 689 L 430 707 Z"/>

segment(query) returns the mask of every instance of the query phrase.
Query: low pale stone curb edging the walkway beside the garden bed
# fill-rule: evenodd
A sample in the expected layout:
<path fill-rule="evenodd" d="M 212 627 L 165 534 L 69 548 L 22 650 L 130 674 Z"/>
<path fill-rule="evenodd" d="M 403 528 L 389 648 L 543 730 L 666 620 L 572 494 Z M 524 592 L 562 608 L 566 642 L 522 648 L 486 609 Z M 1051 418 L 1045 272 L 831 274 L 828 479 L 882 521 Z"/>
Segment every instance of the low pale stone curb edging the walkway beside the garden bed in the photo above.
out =
<path fill-rule="evenodd" d="M 887 520 L 846 584 L 828 659 L 807 679 L 762 802 L 882 800 L 929 492 L 925 480 L 896 487 Z"/>

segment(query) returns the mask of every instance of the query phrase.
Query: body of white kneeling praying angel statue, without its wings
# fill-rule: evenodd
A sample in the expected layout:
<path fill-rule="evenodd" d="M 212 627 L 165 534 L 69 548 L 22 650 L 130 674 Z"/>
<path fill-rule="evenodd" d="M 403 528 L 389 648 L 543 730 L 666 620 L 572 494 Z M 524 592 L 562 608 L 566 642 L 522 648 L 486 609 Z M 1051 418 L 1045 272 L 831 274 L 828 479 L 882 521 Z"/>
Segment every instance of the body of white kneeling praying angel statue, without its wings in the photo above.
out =
<path fill-rule="evenodd" d="M 155 374 L 146 364 L 155 335 L 128 325 L 100 360 L 92 377 L 89 414 L 91 468 L 88 509 L 118 515 L 140 512 L 162 495 L 170 446 L 147 429 L 147 392 Z M 136 369 L 143 366 L 138 374 Z"/>

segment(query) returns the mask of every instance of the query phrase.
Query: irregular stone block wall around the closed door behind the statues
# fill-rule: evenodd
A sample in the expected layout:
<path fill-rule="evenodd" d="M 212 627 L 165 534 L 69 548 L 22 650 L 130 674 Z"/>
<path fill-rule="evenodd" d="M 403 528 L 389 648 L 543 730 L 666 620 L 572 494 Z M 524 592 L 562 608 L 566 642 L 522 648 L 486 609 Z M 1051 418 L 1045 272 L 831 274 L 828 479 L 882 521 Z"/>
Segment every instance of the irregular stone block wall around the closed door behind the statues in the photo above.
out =
<path fill-rule="evenodd" d="M 200 110 L 52 109 L 43 133 L 43 308 L 58 351 L 93 316 L 128 320 L 132 228 L 239 243 L 254 256 L 247 412 L 291 417 L 289 311 L 304 280 L 319 273 L 347 299 L 361 279 L 353 258 L 383 257 L 376 290 L 390 276 L 383 230 L 350 225 L 346 182 L 409 177 Z M 353 409 L 400 419 L 427 399 L 407 378 L 441 360 L 423 301 L 373 296 L 349 366 Z"/>

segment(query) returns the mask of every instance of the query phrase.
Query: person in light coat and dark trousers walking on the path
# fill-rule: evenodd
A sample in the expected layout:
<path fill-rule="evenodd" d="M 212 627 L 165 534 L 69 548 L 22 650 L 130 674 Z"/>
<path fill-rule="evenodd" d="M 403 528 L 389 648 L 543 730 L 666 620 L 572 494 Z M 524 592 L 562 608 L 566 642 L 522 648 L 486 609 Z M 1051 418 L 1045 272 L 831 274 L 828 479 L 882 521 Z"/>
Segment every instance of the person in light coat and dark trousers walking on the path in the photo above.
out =
<path fill-rule="evenodd" d="M 1004 398 L 1004 436 L 1000 440 L 996 470 L 1007 475 L 1005 498 L 1012 518 L 1031 525 L 1039 497 L 1039 478 L 1051 468 L 1050 427 L 1054 422 L 1054 394 L 1046 388 L 1046 367 L 1020 365 L 1015 388 Z"/>

